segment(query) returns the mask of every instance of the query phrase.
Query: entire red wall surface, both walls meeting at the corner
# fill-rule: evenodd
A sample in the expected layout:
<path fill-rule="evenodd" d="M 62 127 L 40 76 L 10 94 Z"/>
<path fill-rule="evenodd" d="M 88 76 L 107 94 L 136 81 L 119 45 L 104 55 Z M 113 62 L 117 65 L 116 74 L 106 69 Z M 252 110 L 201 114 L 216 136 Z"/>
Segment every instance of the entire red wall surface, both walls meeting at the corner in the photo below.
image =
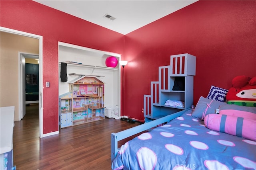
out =
<path fill-rule="evenodd" d="M 194 104 L 211 85 L 228 89 L 234 76 L 256 76 L 256 1 L 198 1 L 125 36 L 33 1 L 0 1 L 0 8 L 2 27 L 43 36 L 43 84 L 51 82 L 44 134 L 58 130 L 58 41 L 122 54 L 124 113 L 137 119 L 170 55 L 197 57 Z"/>

